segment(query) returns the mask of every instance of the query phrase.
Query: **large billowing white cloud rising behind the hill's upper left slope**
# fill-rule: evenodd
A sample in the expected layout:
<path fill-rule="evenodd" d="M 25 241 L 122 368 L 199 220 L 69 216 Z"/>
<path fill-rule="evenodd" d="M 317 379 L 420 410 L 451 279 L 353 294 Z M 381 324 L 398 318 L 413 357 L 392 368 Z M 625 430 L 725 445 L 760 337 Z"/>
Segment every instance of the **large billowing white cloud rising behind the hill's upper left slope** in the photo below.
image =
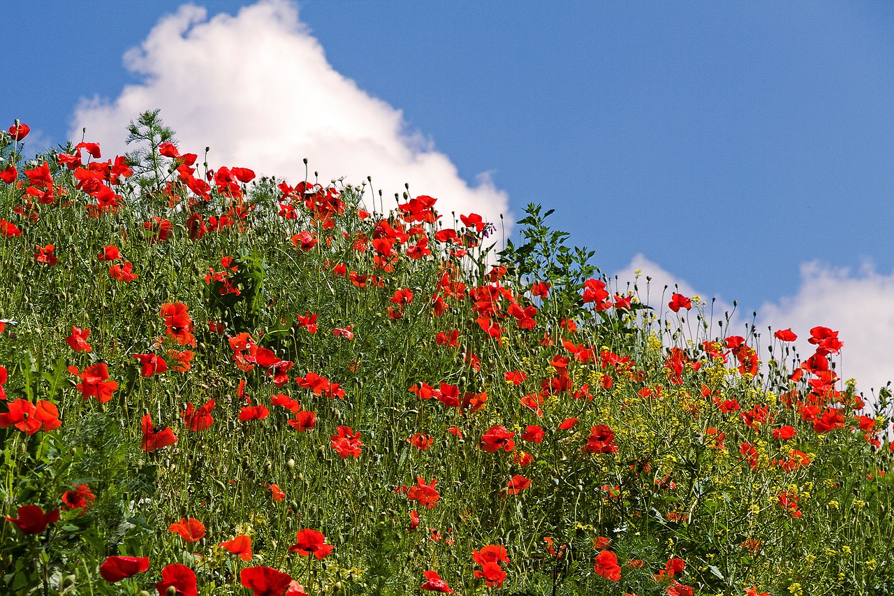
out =
<path fill-rule="evenodd" d="M 495 222 L 508 212 L 506 192 L 487 174 L 474 185 L 464 181 L 430 140 L 406 130 L 401 110 L 335 72 L 287 0 L 263 0 L 210 20 L 204 8 L 181 6 L 124 64 L 142 81 L 111 101 L 82 100 L 72 139 L 80 140 L 86 126 L 89 140 L 106 153 L 122 153 L 128 123 L 160 108 L 181 149 L 201 154 L 210 147 L 213 166 L 296 181 L 304 180 L 308 158 L 310 175 L 318 171 L 321 183 L 344 177 L 359 184 L 372 175 L 385 209 L 409 183 L 413 195 L 436 197 L 442 213 L 474 211 Z"/>

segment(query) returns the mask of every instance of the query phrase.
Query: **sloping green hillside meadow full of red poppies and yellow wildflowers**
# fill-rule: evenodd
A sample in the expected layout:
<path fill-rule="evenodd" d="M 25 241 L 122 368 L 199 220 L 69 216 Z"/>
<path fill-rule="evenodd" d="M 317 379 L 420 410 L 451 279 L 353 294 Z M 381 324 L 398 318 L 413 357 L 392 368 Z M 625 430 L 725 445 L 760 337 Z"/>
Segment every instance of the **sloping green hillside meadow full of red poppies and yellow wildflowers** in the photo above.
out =
<path fill-rule="evenodd" d="M 891 394 L 839 379 L 837 331 L 619 286 L 538 205 L 504 238 L 209 165 L 157 112 L 127 156 L 28 132 L 0 592 L 894 594 Z"/>

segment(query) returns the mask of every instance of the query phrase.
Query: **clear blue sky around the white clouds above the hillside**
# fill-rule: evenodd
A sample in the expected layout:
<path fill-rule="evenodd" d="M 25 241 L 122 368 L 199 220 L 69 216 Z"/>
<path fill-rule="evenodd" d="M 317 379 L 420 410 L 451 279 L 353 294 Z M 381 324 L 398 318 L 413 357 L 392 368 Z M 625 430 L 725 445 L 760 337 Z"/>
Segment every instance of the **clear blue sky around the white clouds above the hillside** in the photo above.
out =
<path fill-rule="evenodd" d="M 248 4 L 205 3 L 209 17 Z M 114 103 L 125 84 L 144 82 L 122 55 L 181 3 L 138 5 L 5 8 L 0 34 L 16 66 L 0 118 L 58 143 L 79 98 Z M 878 328 L 848 309 L 894 312 L 885 299 L 894 286 L 894 4 L 298 7 L 334 72 L 401 110 L 407 131 L 434 143 L 470 186 L 489 173 L 516 216 L 528 202 L 556 209 L 553 226 L 594 249 L 603 271 L 641 254 L 703 295 L 774 313 L 780 327 L 809 314 L 821 319 L 814 325 Z M 165 59 L 176 55 L 154 68 Z M 262 70 L 272 76 L 276 64 L 291 67 L 287 56 L 271 60 Z M 848 298 L 867 294 L 864 304 Z M 894 319 L 884 321 L 894 338 Z"/>

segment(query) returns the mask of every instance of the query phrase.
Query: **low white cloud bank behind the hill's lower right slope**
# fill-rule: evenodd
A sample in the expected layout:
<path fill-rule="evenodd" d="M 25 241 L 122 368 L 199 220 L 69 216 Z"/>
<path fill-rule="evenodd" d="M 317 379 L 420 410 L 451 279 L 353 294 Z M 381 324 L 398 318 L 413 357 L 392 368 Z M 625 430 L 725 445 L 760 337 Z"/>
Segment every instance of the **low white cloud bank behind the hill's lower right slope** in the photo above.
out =
<path fill-rule="evenodd" d="M 696 290 L 642 254 L 637 254 L 616 274 L 620 290 L 625 289 L 627 282 L 632 288 L 637 270 L 642 271 L 637 280 L 639 294 L 656 310 L 670 301 L 675 285 L 680 294 L 699 295 L 707 303 L 715 295 L 704 292 L 704 288 Z M 645 300 L 646 276 L 652 277 L 648 300 Z M 662 300 L 665 285 L 669 289 Z M 730 304 L 716 299 L 714 320 L 719 320 L 718 315 L 726 311 L 732 311 Z M 751 322 L 750 312 L 745 314 L 747 321 L 738 314 L 732 319 L 733 333 L 745 335 L 746 323 Z M 801 266 L 801 283 L 795 295 L 764 302 L 757 309 L 757 330 L 769 336 L 768 328 L 773 331 L 791 328 L 798 336 L 795 347 L 802 357 L 814 353 L 814 346 L 807 339 L 810 329 L 820 326 L 839 331 L 839 339 L 845 346 L 835 357 L 837 370 L 842 379 L 857 379 L 858 392 L 868 397 L 870 389 L 877 390 L 894 381 L 894 272 L 880 274 L 869 263 L 856 272 L 819 262 L 805 263 Z M 717 333 L 716 327 L 713 333 Z"/>

